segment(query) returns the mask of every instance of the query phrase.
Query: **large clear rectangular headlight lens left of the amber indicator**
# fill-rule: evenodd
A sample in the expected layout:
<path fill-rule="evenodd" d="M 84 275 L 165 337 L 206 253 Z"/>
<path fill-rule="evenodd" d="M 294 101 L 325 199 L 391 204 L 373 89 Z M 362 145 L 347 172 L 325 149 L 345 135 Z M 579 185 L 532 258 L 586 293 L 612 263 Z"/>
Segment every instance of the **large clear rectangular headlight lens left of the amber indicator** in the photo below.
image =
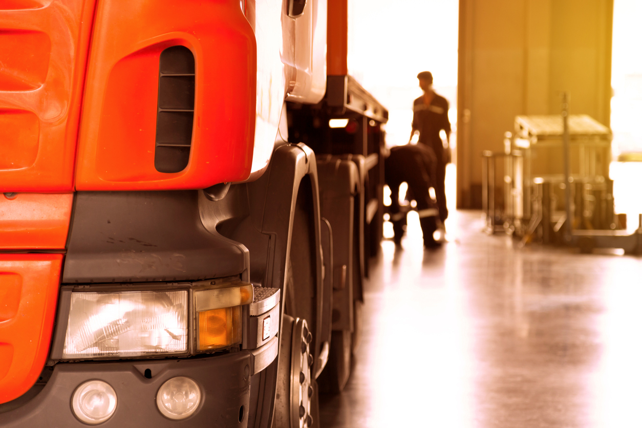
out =
<path fill-rule="evenodd" d="M 187 351 L 187 291 L 72 293 L 62 357 Z"/>

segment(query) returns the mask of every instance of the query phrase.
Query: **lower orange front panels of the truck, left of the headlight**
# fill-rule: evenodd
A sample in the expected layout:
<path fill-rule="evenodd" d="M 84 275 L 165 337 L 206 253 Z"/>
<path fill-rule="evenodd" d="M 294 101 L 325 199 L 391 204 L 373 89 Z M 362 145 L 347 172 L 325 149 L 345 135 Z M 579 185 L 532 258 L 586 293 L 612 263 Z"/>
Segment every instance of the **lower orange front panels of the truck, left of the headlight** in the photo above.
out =
<path fill-rule="evenodd" d="M 73 194 L 0 195 L 1 250 L 63 250 Z M 62 254 L 0 253 L 0 404 L 38 379 L 60 286 Z"/>

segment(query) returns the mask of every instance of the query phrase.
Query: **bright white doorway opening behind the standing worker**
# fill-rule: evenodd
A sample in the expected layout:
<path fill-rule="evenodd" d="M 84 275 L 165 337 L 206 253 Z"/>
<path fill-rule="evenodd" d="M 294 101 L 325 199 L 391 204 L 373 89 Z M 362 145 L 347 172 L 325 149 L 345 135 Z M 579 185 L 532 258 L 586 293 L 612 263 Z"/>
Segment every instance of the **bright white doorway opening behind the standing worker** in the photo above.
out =
<path fill-rule="evenodd" d="M 348 72 L 388 108 L 388 146 L 410 139 L 421 71 L 433 73 L 435 90 L 449 101 L 454 134 L 458 7 L 456 0 L 349 2 Z"/>

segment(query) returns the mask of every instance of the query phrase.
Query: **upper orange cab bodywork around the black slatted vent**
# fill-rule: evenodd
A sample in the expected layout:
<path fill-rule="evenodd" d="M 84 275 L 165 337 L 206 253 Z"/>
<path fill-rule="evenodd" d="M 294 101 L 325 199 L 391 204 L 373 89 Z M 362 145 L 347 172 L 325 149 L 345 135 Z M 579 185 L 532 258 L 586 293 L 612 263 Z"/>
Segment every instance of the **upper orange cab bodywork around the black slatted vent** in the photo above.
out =
<path fill-rule="evenodd" d="M 154 164 L 159 56 L 177 45 L 194 57 L 195 107 L 189 162 L 168 173 Z M 1 2 L 0 58 L 0 191 L 198 189 L 250 175 L 256 39 L 236 0 Z"/>

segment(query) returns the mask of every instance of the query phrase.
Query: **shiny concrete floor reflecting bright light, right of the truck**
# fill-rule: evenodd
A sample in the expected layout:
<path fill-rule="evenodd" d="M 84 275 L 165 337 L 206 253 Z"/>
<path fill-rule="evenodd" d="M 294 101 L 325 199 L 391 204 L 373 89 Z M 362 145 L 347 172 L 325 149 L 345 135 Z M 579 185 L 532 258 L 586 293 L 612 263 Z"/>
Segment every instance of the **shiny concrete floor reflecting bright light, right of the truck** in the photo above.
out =
<path fill-rule="evenodd" d="M 412 214 L 412 213 L 411 213 Z M 517 249 L 479 212 L 381 244 L 329 427 L 642 427 L 642 259 Z"/>

